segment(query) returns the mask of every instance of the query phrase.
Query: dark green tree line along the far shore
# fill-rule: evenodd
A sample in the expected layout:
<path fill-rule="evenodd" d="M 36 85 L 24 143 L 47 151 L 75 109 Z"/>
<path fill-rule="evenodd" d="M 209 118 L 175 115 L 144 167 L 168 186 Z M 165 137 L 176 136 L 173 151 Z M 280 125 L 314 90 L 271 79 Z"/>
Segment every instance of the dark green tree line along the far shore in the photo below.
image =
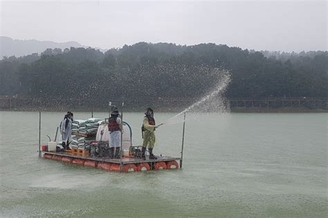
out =
<path fill-rule="evenodd" d="M 327 98 L 327 52 L 256 52 L 214 43 L 136 43 L 100 52 L 47 49 L 4 57 L 0 95 L 41 99 L 190 99 L 230 72 L 228 99 Z"/>

